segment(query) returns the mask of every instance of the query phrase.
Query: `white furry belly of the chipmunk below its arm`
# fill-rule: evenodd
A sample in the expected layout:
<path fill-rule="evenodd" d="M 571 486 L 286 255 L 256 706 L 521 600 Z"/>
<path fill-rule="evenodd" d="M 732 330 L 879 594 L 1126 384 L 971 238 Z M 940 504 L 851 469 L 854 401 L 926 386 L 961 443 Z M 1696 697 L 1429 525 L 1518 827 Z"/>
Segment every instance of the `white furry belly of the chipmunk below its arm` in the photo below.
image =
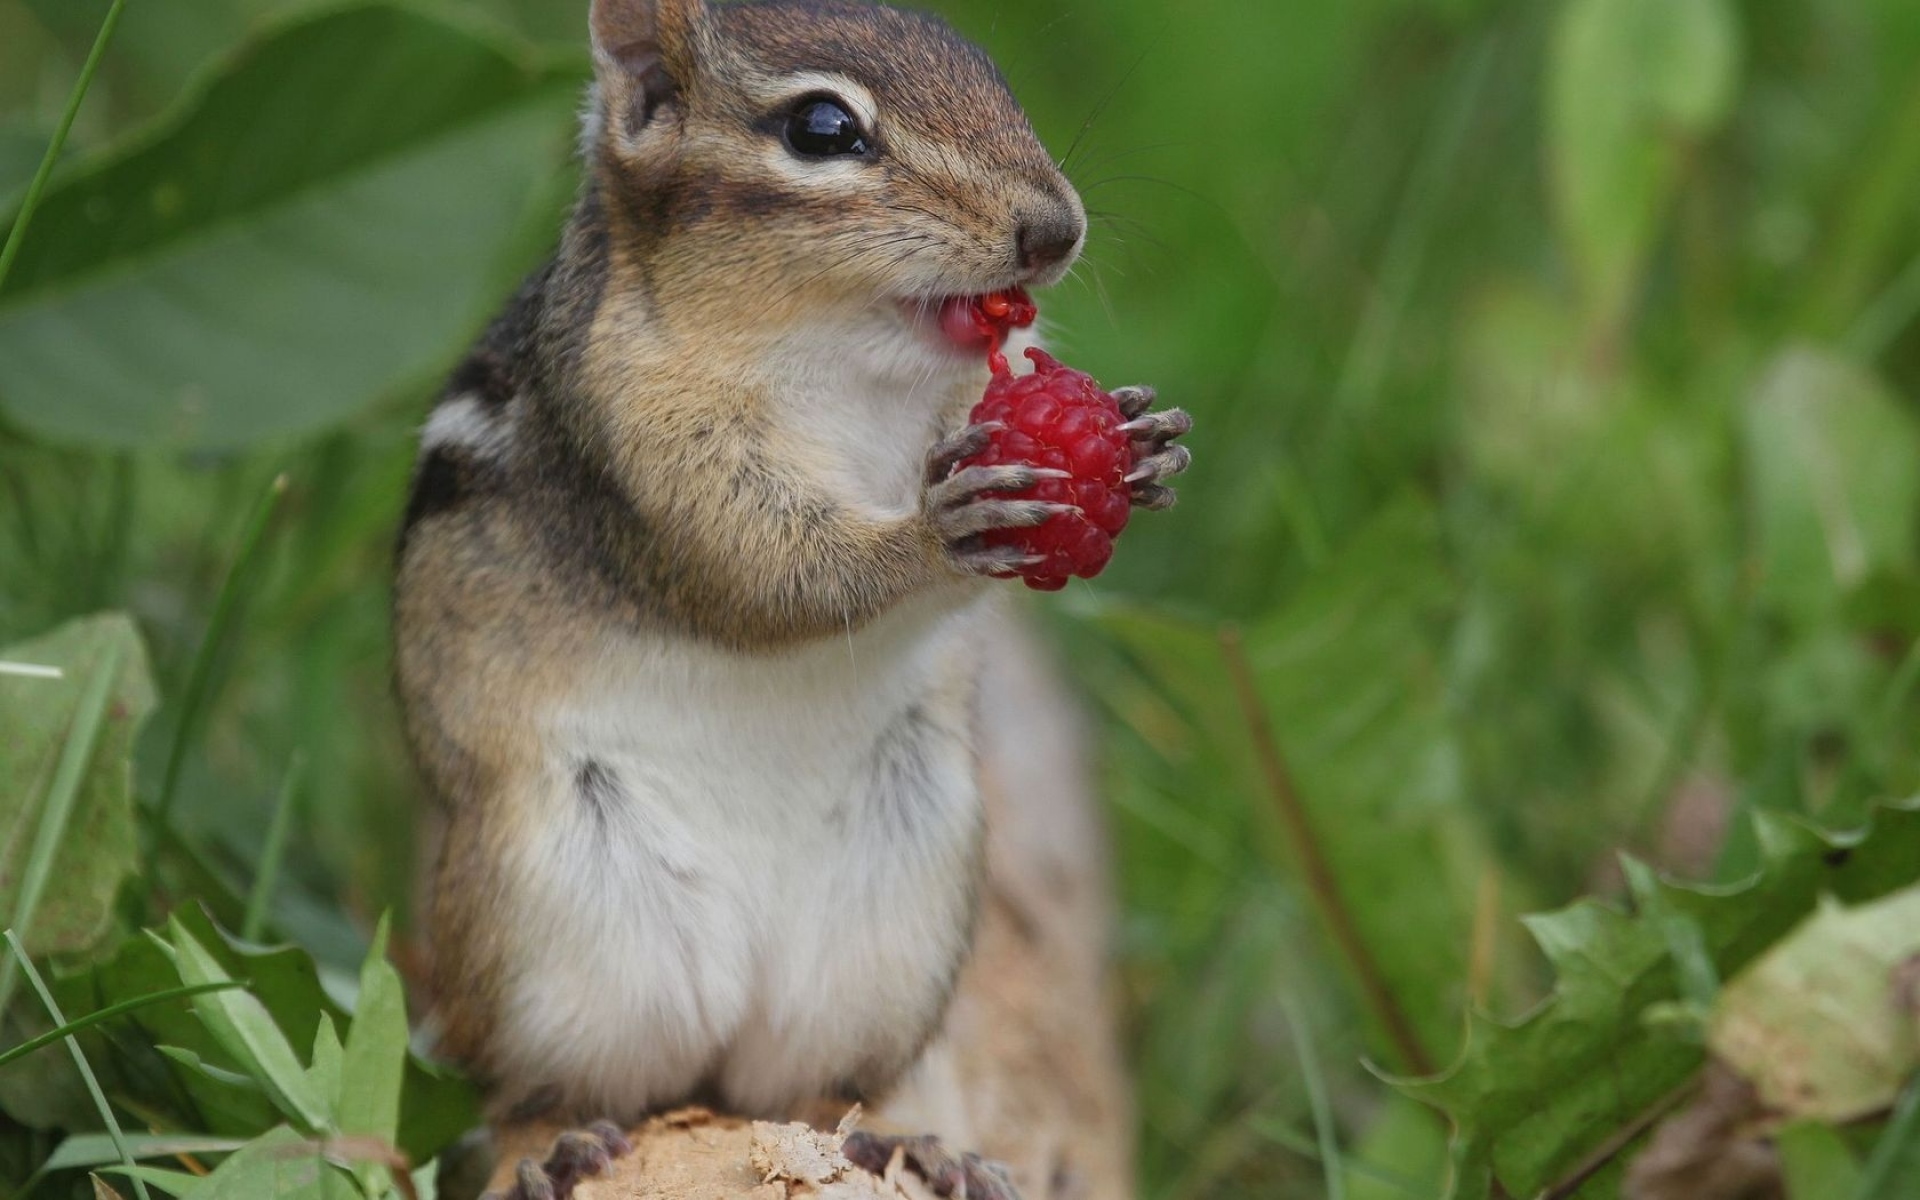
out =
<path fill-rule="evenodd" d="M 900 1064 L 966 952 L 979 847 L 968 645 L 900 612 L 755 659 L 622 636 L 541 720 L 503 1058 L 634 1117 L 776 1112 Z"/>

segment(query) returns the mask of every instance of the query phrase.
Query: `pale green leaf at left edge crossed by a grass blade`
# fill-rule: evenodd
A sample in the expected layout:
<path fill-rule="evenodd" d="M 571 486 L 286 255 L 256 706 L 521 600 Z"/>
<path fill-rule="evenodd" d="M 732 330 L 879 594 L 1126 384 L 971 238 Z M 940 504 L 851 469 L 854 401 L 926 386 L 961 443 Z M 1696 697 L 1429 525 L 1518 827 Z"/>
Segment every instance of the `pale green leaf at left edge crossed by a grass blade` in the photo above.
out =
<path fill-rule="evenodd" d="M 0 920 L 15 922 L 61 751 L 94 670 L 111 659 L 106 710 L 84 760 L 65 829 L 48 847 L 44 891 L 21 929 L 31 954 L 98 947 L 113 899 L 136 868 L 131 756 L 154 708 L 146 649 L 132 620 L 88 616 L 0 651 L 8 662 L 60 668 L 58 680 L 0 674 Z"/>

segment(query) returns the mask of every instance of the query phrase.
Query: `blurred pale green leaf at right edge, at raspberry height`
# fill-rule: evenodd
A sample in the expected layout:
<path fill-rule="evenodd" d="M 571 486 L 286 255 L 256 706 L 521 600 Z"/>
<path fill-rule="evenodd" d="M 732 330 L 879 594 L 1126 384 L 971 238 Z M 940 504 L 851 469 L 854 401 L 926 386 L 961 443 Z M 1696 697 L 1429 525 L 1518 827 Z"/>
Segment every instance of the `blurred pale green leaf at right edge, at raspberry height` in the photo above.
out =
<path fill-rule="evenodd" d="M 1859 367 L 1782 353 L 1743 422 L 1759 595 L 1818 620 L 1876 574 L 1910 574 L 1920 545 L 1920 422 Z"/>

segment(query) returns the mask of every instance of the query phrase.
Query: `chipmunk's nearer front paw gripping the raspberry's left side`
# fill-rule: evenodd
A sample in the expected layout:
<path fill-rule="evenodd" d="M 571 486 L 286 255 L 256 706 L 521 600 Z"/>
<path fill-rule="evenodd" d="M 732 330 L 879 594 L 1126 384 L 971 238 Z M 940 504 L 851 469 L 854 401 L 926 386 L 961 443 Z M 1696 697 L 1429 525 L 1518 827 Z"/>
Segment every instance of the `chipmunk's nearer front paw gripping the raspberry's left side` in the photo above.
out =
<path fill-rule="evenodd" d="M 1025 492 L 1041 480 L 1069 478 L 1066 470 L 1046 467 L 954 467 L 987 445 L 998 426 L 975 424 L 947 438 L 927 455 L 925 516 L 933 534 L 952 555 L 960 570 L 972 574 L 1006 574 L 1016 566 L 1037 563 L 1018 545 L 983 545 L 989 530 L 1020 530 L 1044 522 L 1060 513 L 1077 513 L 1073 505 L 1044 499 L 1004 499 L 998 492 Z"/>

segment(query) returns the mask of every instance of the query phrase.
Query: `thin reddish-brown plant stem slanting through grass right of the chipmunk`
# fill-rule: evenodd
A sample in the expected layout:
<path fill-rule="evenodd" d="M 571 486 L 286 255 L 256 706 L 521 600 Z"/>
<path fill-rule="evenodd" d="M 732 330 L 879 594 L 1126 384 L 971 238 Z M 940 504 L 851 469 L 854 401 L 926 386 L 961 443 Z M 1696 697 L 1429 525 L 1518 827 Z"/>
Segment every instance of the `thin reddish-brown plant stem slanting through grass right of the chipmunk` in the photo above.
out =
<path fill-rule="evenodd" d="M 1340 881 L 1334 877 L 1332 866 L 1327 862 L 1327 852 L 1321 849 L 1319 837 L 1313 833 L 1313 822 L 1308 816 L 1306 804 L 1300 803 L 1300 793 L 1294 787 L 1292 774 L 1286 770 L 1286 758 L 1281 756 L 1281 747 L 1273 737 L 1273 724 L 1267 720 L 1265 703 L 1260 699 L 1260 689 L 1254 684 L 1254 670 L 1246 662 L 1246 647 L 1240 641 L 1240 630 L 1235 626 L 1221 626 L 1219 649 L 1227 660 L 1227 674 L 1233 676 L 1233 691 L 1240 703 L 1240 716 L 1246 720 L 1246 732 L 1254 741 L 1254 756 L 1260 760 L 1260 772 L 1265 778 L 1273 808 L 1279 814 L 1281 824 L 1286 826 L 1286 833 L 1294 843 L 1294 852 L 1300 856 L 1300 866 L 1306 872 L 1308 895 L 1313 900 L 1313 906 L 1319 910 L 1327 931 L 1332 935 L 1334 947 L 1340 950 L 1342 958 L 1346 958 L 1348 968 L 1352 968 L 1356 979 L 1359 981 L 1359 991 L 1363 993 L 1367 1006 L 1386 1029 L 1388 1041 L 1394 1043 L 1394 1050 L 1400 1054 L 1404 1068 L 1413 1075 L 1438 1073 L 1438 1066 L 1434 1066 L 1432 1056 L 1427 1052 L 1419 1033 L 1413 1029 L 1413 1021 L 1400 1006 L 1394 991 L 1386 985 L 1386 973 L 1380 970 L 1379 960 L 1375 960 L 1373 950 L 1367 948 L 1367 941 L 1359 935 L 1359 924 L 1354 920 L 1354 910 L 1340 895 Z"/>

